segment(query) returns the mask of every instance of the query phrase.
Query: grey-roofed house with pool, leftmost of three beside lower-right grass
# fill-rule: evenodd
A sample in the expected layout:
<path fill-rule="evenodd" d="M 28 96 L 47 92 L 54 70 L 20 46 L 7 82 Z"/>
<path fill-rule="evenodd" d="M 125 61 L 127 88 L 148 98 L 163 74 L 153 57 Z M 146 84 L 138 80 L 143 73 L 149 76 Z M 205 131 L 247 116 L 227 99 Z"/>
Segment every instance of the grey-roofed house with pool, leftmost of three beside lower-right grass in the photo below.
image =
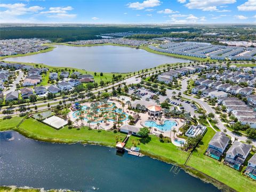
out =
<path fill-rule="evenodd" d="M 217 132 L 209 142 L 209 146 L 205 152 L 205 155 L 208 155 L 212 158 L 220 160 L 221 155 L 228 146 L 230 139 L 223 132 Z"/>

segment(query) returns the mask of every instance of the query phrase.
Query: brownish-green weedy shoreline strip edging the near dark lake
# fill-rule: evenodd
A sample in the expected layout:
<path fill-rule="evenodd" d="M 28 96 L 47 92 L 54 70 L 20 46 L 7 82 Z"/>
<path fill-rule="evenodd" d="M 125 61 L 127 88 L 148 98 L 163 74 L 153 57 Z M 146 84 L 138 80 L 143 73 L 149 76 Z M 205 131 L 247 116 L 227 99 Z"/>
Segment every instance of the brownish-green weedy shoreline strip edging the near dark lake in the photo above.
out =
<path fill-rule="evenodd" d="M 111 147 L 111 148 L 115 147 L 115 144 L 113 144 L 113 143 L 104 143 L 104 142 L 96 142 L 96 141 L 89 141 L 89 140 L 81 140 L 81 141 L 76 140 L 76 141 L 74 141 L 74 140 L 44 138 L 44 137 L 38 136 L 36 134 L 27 133 L 25 130 L 23 130 L 23 131 L 22 130 L 21 129 L 13 129 L 13 130 L 9 130 L 9 131 L 18 132 L 18 133 L 20 133 L 21 135 L 25 136 L 28 139 L 33 139 L 33 140 L 36 140 L 36 141 L 39 141 L 39 142 L 62 143 L 62 144 L 70 144 L 70 145 L 75 144 L 75 143 L 81 143 L 82 145 L 89 144 L 89 145 L 99 145 L 99 146 L 105 146 L 105 147 Z M 218 189 L 220 189 L 222 191 L 232 191 L 232 192 L 236 191 L 235 189 L 225 185 L 221 181 L 218 181 L 214 178 L 211 178 L 209 175 L 207 175 L 207 174 L 205 174 L 201 171 L 198 171 L 198 170 L 194 169 L 193 167 L 178 164 L 177 162 L 174 162 L 169 158 L 165 158 L 165 157 L 162 157 L 162 156 L 159 156 L 159 155 L 155 155 L 155 154 L 152 154 L 148 151 L 141 150 L 141 153 L 150 157 L 150 158 L 157 159 L 158 161 L 162 161 L 162 162 L 165 162 L 167 164 L 172 164 L 172 165 L 178 166 L 182 170 L 184 170 L 186 173 L 190 174 L 191 176 L 193 176 L 195 178 L 198 178 L 198 179 L 201 179 L 205 183 L 211 183 L 212 185 L 214 185 L 215 187 L 217 187 Z"/>

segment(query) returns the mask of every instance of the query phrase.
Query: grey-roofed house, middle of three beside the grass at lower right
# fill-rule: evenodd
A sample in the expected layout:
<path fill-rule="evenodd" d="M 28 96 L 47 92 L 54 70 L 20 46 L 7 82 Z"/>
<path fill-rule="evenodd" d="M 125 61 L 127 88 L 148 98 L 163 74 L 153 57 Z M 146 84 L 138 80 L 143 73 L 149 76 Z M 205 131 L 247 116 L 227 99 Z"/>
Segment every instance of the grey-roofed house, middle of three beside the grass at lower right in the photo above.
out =
<path fill-rule="evenodd" d="M 249 155 L 252 146 L 246 143 L 235 141 L 226 153 L 225 163 L 236 170 L 244 163 Z"/>

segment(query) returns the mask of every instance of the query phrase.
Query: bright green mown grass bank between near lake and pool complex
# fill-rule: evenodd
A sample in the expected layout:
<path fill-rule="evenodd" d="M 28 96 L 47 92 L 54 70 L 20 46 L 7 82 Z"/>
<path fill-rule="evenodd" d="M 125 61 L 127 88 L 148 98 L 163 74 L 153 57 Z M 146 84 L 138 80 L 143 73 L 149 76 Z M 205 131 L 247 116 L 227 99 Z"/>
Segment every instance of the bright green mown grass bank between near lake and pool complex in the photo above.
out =
<path fill-rule="evenodd" d="M 0 119 L 1 131 L 13 129 L 20 121 L 20 117 L 13 117 L 6 120 Z M 227 186 L 237 191 L 253 191 L 256 187 L 255 182 L 244 177 L 241 172 L 233 170 L 219 161 L 204 155 L 209 141 L 215 134 L 215 131 L 212 130 L 211 127 L 207 128 L 207 132 L 199 144 L 199 147 L 193 152 L 187 165 L 225 183 Z M 116 144 L 116 137 L 118 137 L 119 140 L 123 140 L 126 136 L 126 134 L 114 133 L 113 131 L 98 132 L 98 130 L 89 130 L 88 127 L 81 128 L 80 130 L 68 129 L 68 127 L 55 130 L 33 118 L 26 119 L 18 129 L 13 130 L 19 131 L 26 137 L 36 140 L 67 143 L 89 142 L 113 147 Z M 154 135 L 150 135 L 147 139 L 131 136 L 126 146 L 132 146 L 132 142 L 137 140 L 140 140 L 140 145 L 137 146 L 141 148 L 142 153 L 156 157 L 165 162 L 176 163 L 183 166 L 189 156 L 188 152 L 180 150 L 172 143 L 162 143 Z"/>

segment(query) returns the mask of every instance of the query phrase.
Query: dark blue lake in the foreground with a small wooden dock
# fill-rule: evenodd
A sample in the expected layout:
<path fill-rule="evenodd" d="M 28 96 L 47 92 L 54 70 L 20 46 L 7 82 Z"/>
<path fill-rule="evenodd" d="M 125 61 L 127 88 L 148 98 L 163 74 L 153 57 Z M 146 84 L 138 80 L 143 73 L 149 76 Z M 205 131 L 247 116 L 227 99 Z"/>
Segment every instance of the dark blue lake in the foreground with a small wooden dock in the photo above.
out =
<path fill-rule="evenodd" d="M 171 164 L 114 148 L 38 142 L 0 132 L 1 185 L 79 191 L 219 191 Z M 174 169 L 173 169 L 174 170 Z"/>

